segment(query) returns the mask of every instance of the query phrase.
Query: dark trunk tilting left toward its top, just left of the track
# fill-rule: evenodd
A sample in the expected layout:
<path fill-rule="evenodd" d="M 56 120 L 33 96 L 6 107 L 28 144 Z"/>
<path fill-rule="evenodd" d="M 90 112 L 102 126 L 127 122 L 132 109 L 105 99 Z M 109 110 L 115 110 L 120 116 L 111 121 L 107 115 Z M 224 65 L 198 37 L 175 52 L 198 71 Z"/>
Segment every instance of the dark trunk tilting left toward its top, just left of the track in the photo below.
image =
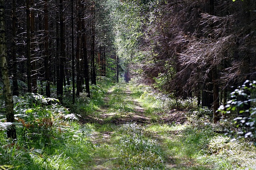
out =
<path fill-rule="evenodd" d="M 84 5 L 82 3 L 82 8 Z M 84 55 L 84 80 L 85 80 L 85 90 L 87 97 L 90 98 L 90 86 L 89 86 L 89 67 L 88 67 L 88 60 L 87 60 L 87 44 L 86 44 L 86 27 L 85 21 L 82 20 L 82 42 L 83 42 L 83 55 Z"/>

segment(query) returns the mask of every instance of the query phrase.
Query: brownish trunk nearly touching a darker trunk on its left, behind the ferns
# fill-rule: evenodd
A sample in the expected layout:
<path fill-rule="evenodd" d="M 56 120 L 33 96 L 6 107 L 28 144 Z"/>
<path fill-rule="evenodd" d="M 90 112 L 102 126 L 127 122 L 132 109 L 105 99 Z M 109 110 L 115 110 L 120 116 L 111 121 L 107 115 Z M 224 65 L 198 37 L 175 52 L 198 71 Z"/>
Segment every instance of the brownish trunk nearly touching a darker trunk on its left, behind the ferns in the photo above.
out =
<path fill-rule="evenodd" d="M 30 0 L 30 6 L 34 6 L 34 0 Z M 37 70 L 36 70 L 36 41 L 35 41 L 35 12 L 30 11 L 30 43 L 31 43 L 31 78 L 32 78 L 32 92 L 37 93 Z"/>

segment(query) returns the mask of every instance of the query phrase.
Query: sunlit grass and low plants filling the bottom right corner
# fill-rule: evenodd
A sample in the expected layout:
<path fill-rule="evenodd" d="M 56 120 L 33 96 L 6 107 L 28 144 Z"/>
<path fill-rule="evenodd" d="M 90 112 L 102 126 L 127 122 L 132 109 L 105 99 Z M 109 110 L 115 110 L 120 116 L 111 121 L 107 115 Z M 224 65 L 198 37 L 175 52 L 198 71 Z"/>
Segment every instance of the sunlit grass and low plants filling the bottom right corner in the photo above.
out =
<path fill-rule="evenodd" d="M 159 125 L 146 127 L 151 136 L 158 134 L 165 160 L 176 169 L 233 170 L 254 169 L 256 149 L 245 141 L 227 142 L 228 137 L 213 132 L 206 125 Z"/>

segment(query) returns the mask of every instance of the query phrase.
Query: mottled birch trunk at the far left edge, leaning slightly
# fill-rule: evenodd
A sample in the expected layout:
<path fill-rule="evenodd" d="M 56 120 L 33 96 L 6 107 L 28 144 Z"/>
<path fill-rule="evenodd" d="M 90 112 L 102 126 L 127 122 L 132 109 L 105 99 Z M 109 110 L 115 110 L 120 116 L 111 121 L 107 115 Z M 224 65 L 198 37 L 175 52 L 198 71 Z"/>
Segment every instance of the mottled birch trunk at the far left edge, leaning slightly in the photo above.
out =
<path fill-rule="evenodd" d="M 5 21 L 4 21 L 4 0 L 0 0 L 0 63 L 2 72 L 2 81 L 4 83 L 5 107 L 6 107 L 6 121 L 15 122 L 13 111 L 12 90 L 10 87 L 10 80 L 7 66 L 7 50 L 5 37 Z M 16 139 L 16 127 L 12 124 L 7 129 L 7 137 Z"/>

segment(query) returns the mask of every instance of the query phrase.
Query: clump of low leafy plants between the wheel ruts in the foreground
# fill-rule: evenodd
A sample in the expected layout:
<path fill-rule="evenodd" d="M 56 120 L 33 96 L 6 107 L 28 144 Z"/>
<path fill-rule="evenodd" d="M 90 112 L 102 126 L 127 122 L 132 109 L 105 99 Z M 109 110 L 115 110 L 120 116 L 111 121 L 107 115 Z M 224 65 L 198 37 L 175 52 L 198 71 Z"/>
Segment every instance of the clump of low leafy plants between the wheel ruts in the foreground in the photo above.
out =
<path fill-rule="evenodd" d="M 164 169 L 162 150 L 154 139 L 144 135 L 145 129 L 136 123 L 124 124 L 119 133 L 120 169 L 160 170 Z"/>

